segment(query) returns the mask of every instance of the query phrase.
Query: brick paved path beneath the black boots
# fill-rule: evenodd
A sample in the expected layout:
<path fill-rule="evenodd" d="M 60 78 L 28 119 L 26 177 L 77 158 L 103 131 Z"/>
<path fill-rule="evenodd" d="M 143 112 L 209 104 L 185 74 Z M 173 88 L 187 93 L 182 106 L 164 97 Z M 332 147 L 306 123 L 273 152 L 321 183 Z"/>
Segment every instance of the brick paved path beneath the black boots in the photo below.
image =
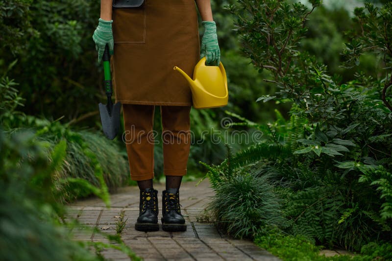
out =
<path fill-rule="evenodd" d="M 162 230 L 162 190 L 164 184 L 154 184 L 158 190 L 160 231 L 140 232 L 135 230 L 134 223 L 139 216 L 139 189 L 137 187 L 121 188 L 111 195 L 111 208 L 105 208 L 98 198 L 79 200 L 69 205 L 70 215 L 77 217 L 80 223 L 91 227 L 97 226 L 105 233 L 116 234 L 116 223 L 124 211 L 124 219 L 128 218 L 122 232 L 125 244 L 144 260 L 262 260 L 278 261 L 266 250 L 260 249 L 250 240 L 238 240 L 221 235 L 212 223 L 202 222 L 203 212 L 214 195 L 208 179 L 204 179 L 197 187 L 195 182 L 183 182 L 180 187 L 181 213 L 187 224 L 185 232 L 165 232 Z M 101 235 L 87 234 L 85 231 L 74 231 L 79 240 L 107 242 Z M 116 249 L 105 250 L 105 258 L 113 260 L 129 260 Z"/>

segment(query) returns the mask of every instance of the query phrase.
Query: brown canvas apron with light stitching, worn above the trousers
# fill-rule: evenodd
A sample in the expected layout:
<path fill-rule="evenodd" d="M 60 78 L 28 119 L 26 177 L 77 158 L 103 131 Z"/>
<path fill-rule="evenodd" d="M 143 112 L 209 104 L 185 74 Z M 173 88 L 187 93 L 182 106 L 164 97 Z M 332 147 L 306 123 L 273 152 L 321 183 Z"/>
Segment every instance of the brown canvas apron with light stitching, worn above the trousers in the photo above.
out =
<path fill-rule="evenodd" d="M 200 58 L 195 0 L 145 0 L 134 8 L 113 8 L 113 89 L 116 102 L 192 104 L 185 78 Z"/>

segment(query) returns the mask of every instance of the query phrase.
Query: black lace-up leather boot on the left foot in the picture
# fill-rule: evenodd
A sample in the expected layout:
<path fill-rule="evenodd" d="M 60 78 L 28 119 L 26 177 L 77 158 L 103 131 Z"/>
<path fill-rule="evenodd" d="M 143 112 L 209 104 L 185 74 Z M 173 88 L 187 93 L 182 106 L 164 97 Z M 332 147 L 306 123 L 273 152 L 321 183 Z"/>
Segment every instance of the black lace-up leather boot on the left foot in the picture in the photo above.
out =
<path fill-rule="evenodd" d="M 135 229 L 139 231 L 158 231 L 158 190 L 140 190 L 139 217 Z"/>

